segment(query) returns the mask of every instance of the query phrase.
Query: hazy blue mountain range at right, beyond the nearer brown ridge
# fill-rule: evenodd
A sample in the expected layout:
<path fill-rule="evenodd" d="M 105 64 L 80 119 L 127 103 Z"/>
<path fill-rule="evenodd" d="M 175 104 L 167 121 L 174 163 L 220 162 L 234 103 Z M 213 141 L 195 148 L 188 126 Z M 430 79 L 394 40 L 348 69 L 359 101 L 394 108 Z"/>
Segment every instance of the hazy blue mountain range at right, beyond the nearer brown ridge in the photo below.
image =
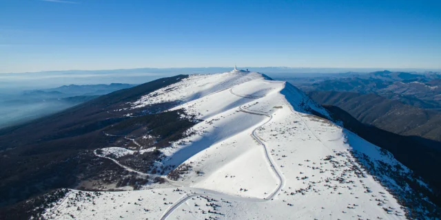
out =
<path fill-rule="evenodd" d="M 433 72 L 416 74 L 383 71 L 286 80 L 304 91 L 378 94 L 423 109 L 441 110 L 441 75 Z"/>

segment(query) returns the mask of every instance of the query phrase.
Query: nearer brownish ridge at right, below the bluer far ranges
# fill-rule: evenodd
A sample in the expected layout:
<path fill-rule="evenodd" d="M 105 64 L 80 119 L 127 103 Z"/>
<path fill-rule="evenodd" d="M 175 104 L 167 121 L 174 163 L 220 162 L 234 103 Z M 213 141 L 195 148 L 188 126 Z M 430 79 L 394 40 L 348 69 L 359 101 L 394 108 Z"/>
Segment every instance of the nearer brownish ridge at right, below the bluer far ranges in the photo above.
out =
<path fill-rule="evenodd" d="M 365 124 L 400 135 L 416 135 L 441 141 L 441 113 L 419 109 L 376 94 L 342 91 L 309 91 L 320 104 L 331 104 Z"/>

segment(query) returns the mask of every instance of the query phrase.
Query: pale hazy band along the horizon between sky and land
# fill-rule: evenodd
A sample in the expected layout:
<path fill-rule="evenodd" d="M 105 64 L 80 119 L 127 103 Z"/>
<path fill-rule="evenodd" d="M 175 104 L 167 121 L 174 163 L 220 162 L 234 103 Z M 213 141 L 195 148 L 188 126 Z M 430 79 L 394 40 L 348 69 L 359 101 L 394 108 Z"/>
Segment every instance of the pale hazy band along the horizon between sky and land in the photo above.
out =
<path fill-rule="evenodd" d="M 60 70 L 0 74 L 0 91 L 42 89 L 61 85 L 90 85 L 129 83 L 141 84 L 151 80 L 179 74 L 215 74 L 229 72 L 234 67 L 184 67 L 184 68 L 136 68 L 101 70 Z M 440 72 L 439 69 L 409 68 L 307 68 L 307 67 L 240 67 L 260 72 L 274 78 L 290 76 L 314 76 L 314 74 L 344 74 L 347 72 L 368 73 L 382 70 L 403 72 Z"/>

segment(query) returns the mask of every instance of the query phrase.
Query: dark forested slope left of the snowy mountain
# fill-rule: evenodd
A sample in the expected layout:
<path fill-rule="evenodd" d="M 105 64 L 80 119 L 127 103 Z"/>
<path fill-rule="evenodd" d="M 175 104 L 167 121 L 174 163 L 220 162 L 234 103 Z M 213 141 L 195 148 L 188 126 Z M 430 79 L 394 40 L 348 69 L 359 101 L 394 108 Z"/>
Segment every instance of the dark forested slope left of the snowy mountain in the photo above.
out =
<path fill-rule="evenodd" d="M 180 75 L 161 78 L 130 89 L 114 91 L 60 113 L 1 129 L 0 207 L 55 188 L 74 188 L 84 179 L 110 184 L 119 180 L 112 177 L 114 173 L 119 173 L 118 177 L 130 175 L 109 160 L 93 154 L 96 148 L 125 140 L 124 137 L 103 135 L 103 131 L 125 120 L 136 122 L 136 118 L 126 115 L 140 115 L 146 110 L 141 108 L 132 111 L 127 108 L 127 102 L 186 77 Z M 161 106 L 151 108 L 157 109 Z M 115 113 L 116 109 L 125 111 Z M 176 120 L 180 116 L 176 111 L 158 114 L 149 119 L 153 124 L 149 129 L 156 129 L 154 124 L 157 129 L 162 129 L 165 124 L 161 122 L 168 118 Z M 163 135 L 163 138 L 169 138 L 178 129 L 185 129 L 185 126 L 192 123 L 187 121 L 181 124 L 175 130 L 169 129 L 169 133 Z"/>

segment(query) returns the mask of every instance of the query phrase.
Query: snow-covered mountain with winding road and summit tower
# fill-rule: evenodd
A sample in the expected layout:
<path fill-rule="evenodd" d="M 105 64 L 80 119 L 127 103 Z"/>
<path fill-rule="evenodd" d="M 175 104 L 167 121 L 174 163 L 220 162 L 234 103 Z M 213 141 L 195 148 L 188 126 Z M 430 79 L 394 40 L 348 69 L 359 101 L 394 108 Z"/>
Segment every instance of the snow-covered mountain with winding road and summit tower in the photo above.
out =
<path fill-rule="evenodd" d="M 192 75 L 114 113 L 161 103 L 174 103 L 166 111 L 181 109 L 181 117 L 197 123 L 164 148 L 125 137 L 141 149 L 114 146 L 95 154 L 165 183 L 119 192 L 70 190 L 44 217 L 420 219 L 435 213 L 405 181 L 411 170 L 333 122 L 289 83 L 237 69 Z M 161 153 L 149 170 L 118 162 L 147 151 Z"/>

